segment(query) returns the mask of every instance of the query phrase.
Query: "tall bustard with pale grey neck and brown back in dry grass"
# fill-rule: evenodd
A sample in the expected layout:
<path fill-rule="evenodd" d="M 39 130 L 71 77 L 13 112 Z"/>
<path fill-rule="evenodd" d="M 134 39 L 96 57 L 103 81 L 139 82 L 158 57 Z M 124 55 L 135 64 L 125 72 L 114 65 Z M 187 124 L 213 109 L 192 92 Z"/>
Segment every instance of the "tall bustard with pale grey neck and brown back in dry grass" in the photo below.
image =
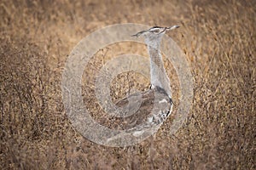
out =
<path fill-rule="evenodd" d="M 152 129 L 156 130 L 172 113 L 173 102 L 170 80 L 167 77 L 160 54 L 160 42 L 166 31 L 171 31 L 178 27 L 153 26 L 148 30 L 139 31 L 137 34 L 132 35 L 132 37 L 144 37 L 148 46 L 151 88 L 141 94 L 132 94 L 116 103 L 116 105 L 122 107 L 127 105 L 131 97 L 135 103 L 143 99 L 141 108 L 137 113 L 124 118 L 125 123 L 122 128 L 126 129 L 126 133 L 132 133 L 132 135 L 137 136 L 141 135 L 141 133 L 151 132 Z M 137 96 L 139 95 L 142 98 L 138 98 Z"/>

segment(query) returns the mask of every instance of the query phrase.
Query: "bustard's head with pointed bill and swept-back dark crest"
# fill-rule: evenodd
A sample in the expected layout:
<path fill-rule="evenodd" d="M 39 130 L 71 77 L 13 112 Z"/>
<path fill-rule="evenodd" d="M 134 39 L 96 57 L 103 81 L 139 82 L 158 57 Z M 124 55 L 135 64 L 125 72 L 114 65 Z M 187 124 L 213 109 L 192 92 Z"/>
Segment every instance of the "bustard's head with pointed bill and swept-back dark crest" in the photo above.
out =
<path fill-rule="evenodd" d="M 148 30 L 144 30 L 144 31 L 139 31 L 137 32 L 137 34 L 132 35 L 132 37 L 148 37 L 148 38 L 158 38 L 158 37 L 162 37 L 166 31 L 171 31 L 174 30 L 176 28 L 178 28 L 179 26 L 170 26 L 170 27 L 160 27 L 160 26 L 154 26 L 152 28 L 149 28 Z"/>

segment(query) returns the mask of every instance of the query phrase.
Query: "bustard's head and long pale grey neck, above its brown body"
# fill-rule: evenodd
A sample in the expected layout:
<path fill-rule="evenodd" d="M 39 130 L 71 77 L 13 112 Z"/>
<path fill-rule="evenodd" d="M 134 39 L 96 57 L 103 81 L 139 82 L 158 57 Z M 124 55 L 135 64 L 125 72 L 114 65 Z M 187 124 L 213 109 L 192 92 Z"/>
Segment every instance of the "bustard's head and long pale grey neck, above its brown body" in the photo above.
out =
<path fill-rule="evenodd" d="M 150 88 L 161 88 L 172 99 L 170 80 L 167 77 L 163 59 L 160 54 L 160 42 L 166 31 L 177 29 L 179 26 L 153 26 L 148 30 L 139 31 L 132 37 L 144 37 L 150 56 Z"/>

